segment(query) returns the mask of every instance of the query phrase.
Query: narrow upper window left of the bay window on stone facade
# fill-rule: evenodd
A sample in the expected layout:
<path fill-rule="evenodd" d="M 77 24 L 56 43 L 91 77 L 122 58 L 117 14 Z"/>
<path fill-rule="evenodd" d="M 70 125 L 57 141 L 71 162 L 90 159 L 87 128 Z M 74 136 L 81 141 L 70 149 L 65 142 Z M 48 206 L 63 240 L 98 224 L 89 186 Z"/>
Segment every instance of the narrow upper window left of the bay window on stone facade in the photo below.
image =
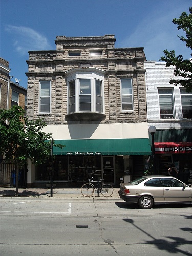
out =
<path fill-rule="evenodd" d="M 39 112 L 49 113 L 51 111 L 51 81 L 40 81 L 39 90 Z"/>

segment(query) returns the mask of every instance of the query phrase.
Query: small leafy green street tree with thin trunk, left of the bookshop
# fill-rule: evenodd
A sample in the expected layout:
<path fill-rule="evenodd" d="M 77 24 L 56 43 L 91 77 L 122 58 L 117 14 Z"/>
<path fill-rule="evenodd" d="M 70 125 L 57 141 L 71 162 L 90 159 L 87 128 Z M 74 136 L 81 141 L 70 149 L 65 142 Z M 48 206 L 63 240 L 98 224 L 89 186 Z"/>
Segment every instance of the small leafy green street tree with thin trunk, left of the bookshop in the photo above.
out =
<path fill-rule="evenodd" d="M 19 166 L 27 163 L 27 159 L 34 164 L 45 163 L 51 155 L 52 134 L 42 131 L 45 126 L 46 123 L 40 118 L 28 120 L 19 106 L 0 109 L 0 153 L 5 154 L 5 159 L 15 162 L 16 196 Z M 56 145 L 54 140 L 53 146 L 63 147 Z"/>

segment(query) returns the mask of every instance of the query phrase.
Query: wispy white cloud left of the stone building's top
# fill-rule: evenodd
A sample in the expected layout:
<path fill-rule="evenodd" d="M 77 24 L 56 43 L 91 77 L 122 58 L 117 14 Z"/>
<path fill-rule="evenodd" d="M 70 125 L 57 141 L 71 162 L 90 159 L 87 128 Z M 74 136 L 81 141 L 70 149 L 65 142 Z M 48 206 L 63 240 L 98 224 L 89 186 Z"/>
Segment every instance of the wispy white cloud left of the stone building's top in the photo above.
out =
<path fill-rule="evenodd" d="M 31 28 L 7 25 L 6 31 L 12 34 L 13 45 L 22 56 L 28 54 L 28 51 L 50 50 L 51 48 L 47 38 Z"/>

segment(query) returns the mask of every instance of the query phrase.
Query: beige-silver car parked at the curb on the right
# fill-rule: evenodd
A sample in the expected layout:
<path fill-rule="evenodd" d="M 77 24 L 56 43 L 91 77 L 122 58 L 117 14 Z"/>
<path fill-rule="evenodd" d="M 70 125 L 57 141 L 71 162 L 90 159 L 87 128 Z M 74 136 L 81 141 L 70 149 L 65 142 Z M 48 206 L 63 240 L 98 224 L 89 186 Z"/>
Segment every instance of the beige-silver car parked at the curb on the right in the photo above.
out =
<path fill-rule="evenodd" d="M 143 176 L 129 183 L 121 183 L 119 196 L 142 209 L 154 204 L 192 203 L 192 187 L 171 176 Z"/>

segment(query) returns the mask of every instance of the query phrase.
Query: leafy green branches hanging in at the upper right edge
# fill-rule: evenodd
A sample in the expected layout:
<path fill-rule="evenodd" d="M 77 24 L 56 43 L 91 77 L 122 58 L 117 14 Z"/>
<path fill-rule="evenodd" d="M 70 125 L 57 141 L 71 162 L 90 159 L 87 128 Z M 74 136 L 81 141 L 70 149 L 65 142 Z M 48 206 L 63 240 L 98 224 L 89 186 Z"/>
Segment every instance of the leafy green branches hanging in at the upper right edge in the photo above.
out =
<path fill-rule="evenodd" d="M 182 29 L 186 37 L 178 36 L 179 39 L 186 43 L 186 47 L 192 50 L 192 7 L 189 8 L 189 14 L 182 12 L 181 16 L 177 19 L 173 19 L 173 23 L 177 24 L 177 29 Z M 183 59 L 182 55 L 175 56 L 175 51 L 172 50 L 168 52 L 167 50 L 163 51 L 165 56 L 161 57 L 162 61 L 166 62 L 166 67 L 174 65 L 174 75 L 180 76 L 181 79 L 172 79 L 170 80 L 171 84 L 181 84 L 186 88 L 187 92 L 192 92 L 192 62 L 189 59 Z M 191 53 L 192 56 L 192 53 Z"/>

